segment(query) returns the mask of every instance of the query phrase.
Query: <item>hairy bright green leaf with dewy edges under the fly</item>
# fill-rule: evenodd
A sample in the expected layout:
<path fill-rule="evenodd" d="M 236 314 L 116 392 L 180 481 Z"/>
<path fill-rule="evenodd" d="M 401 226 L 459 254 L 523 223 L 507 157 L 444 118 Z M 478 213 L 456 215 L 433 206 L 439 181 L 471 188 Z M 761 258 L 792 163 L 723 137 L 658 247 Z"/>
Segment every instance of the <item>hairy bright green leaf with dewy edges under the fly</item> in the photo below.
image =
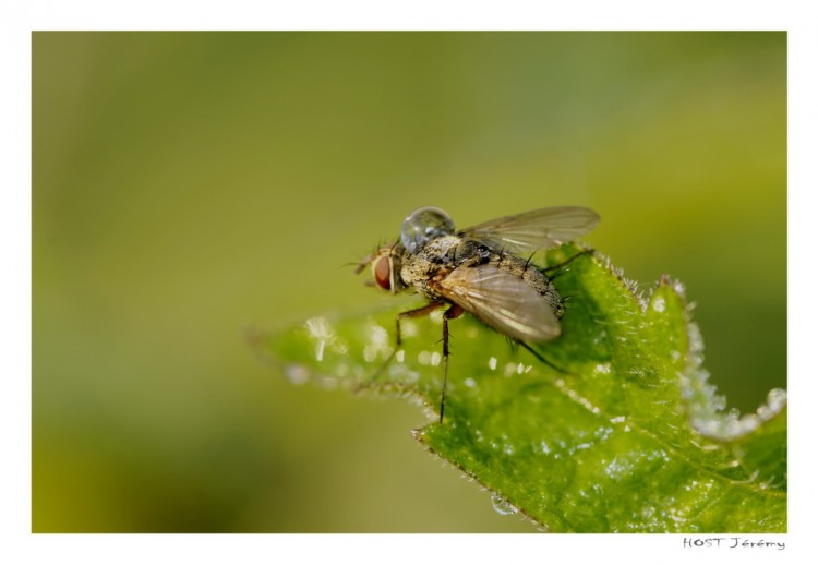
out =
<path fill-rule="evenodd" d="M 402 321 L 384 368 L 395 316 L 422 305 L 417 296 L 253 341 L 294 382 L 420 399 L 430 423 L 418 441 L 491 490 L 498 512 L 550 531 L 786 531 L 785 393 L 754 414 L 725 410 L 677 282 L 662 278 L 646 299 L 585 254 L 554 284 L 567 311 L 562 336 L 537 347 L 546 362 L 468 315 L 449 323 L 443 424 L 440 314 Z"/>

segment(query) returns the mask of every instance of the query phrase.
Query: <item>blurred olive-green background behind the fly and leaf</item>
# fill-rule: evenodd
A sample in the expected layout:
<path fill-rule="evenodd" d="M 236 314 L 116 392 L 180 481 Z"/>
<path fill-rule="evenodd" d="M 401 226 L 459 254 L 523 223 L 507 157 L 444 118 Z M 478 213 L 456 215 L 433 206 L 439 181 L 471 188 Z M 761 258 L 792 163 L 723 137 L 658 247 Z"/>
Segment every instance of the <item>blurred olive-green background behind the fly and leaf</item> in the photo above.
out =
<path fill-rule="evenodd" d="M 754 410 L 785 122 L 784 33 L 35 33 L 34 531 L 534 531 L 417 406 L 293 386 L 244 329 L 388 300 L 344 264 L 417 206 L 586 205 Z"/>

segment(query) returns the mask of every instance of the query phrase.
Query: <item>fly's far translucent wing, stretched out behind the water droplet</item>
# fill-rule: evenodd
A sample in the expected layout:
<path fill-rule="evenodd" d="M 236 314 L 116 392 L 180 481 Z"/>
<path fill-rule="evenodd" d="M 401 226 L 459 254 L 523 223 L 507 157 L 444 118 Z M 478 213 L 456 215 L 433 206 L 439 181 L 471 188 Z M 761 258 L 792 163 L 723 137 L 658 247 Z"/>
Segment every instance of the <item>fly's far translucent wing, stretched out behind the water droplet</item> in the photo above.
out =
<path fill-rule="evenodd" d="M 591 231 L 599 219 L 599 215 L 589 208 L 556 206 L 484 221 L 460 235 L 484 241 L 495 249 L 522 253 L 573 241 Z"/>

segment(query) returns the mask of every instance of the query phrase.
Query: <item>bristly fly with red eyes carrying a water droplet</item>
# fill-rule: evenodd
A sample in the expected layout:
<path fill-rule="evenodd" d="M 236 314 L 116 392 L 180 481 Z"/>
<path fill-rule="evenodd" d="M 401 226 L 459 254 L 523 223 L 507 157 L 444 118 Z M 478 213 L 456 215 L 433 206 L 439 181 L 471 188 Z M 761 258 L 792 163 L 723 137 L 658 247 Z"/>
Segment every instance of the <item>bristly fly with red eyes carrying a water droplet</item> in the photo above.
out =
<path fill-rule="evenodd" d="M 449 320 L 468 312 L 537 354 L 528 344 L 543 344 L 560 336 L 564 308 L 545 275 L 550 269 L 541 269 L 531 263 L 530 256 L 524 259 L 521 254 L 577 239 L 593 229 L 599 219 L 591 209 L 560 206 L 505 216 L 458 231 L 449 215 L 440 208 L 428 206 L 409 214 L 400 240 L 381 247 L 356 269 L 360 273 L 370 265 L 375 286 L 393 293 L 416 291 L 429 299 L 426 305 L 397 315 L 396 347 L 384 366 L 401 345 L 401 320 L 446 308 L 443 423 Z"/>

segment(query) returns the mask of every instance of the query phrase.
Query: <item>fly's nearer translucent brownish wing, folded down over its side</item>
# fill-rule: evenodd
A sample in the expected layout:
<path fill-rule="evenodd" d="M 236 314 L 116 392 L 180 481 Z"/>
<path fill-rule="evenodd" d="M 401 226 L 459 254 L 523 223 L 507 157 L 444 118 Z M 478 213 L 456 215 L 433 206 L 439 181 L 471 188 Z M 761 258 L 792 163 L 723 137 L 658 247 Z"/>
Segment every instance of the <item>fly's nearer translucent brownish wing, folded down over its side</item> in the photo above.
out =
<path fill-rule="evenodd" d="M 495 266 L 459 267 L 438 285 L 448 300 L 512 339 L 542 342 L 560 335 L 560 323 L 540 293 Z"/>

